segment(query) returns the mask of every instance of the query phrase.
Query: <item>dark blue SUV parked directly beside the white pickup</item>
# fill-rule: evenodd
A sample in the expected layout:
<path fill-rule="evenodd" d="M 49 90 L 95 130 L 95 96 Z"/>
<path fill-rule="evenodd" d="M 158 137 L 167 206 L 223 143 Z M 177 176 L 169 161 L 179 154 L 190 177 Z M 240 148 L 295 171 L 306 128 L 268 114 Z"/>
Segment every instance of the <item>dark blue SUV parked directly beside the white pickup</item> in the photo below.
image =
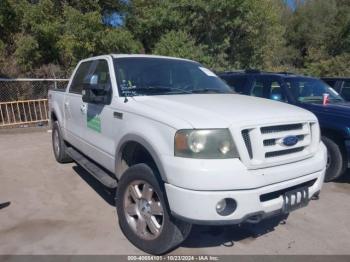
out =
<path fill-rule="evenodd" d="M 350 103 L 328 84 L 289 73 L 239 71 L 218 75 L 239 94 L 286 102 L 313 112 L 328 149 L 325 181 L 344 173 L 350 163 Z M 324 94 L 328 94 L 326 104 Z"/>

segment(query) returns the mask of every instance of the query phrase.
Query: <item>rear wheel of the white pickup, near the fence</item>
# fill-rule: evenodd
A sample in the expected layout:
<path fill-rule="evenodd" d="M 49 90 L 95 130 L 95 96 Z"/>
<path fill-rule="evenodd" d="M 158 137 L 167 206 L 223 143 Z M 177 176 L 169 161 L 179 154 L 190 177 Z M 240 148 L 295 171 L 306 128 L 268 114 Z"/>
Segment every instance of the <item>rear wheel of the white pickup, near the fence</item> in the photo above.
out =
<path fill-rule="evenodd" d="M 67 155 L 67 145 L 61 135 L 57 121 L 52 124 L 52 149 L 58 163 L 71 163 L 73 160 Z"/>

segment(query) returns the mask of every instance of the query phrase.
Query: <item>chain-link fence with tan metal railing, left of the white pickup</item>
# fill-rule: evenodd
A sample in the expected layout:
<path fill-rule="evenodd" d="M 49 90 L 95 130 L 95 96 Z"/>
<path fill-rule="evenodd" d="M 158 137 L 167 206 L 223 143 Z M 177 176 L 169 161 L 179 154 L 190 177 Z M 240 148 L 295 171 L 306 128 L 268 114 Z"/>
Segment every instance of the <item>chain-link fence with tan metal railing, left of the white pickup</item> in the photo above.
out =
<path fill-rule="evenodd" d="M 1 79 L 0 128 L 46 125 L 49 89 L 65 89 L 68 79 Z"/>

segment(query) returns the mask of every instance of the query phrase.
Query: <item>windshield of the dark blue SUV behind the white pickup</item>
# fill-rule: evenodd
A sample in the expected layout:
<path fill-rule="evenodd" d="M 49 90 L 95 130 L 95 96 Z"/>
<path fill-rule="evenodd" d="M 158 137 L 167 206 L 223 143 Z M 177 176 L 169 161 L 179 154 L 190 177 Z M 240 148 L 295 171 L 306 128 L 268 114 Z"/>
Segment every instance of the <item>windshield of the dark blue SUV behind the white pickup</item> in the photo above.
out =
<path fill-rule="evenodd" d="M 313 78 L 287 78 L 287 87 L 294 98 L 301 103 L 323 103 L 323 95 L 328 94 L 330 103 L 343 102 L 343 98 L 325 82 Z"/>

